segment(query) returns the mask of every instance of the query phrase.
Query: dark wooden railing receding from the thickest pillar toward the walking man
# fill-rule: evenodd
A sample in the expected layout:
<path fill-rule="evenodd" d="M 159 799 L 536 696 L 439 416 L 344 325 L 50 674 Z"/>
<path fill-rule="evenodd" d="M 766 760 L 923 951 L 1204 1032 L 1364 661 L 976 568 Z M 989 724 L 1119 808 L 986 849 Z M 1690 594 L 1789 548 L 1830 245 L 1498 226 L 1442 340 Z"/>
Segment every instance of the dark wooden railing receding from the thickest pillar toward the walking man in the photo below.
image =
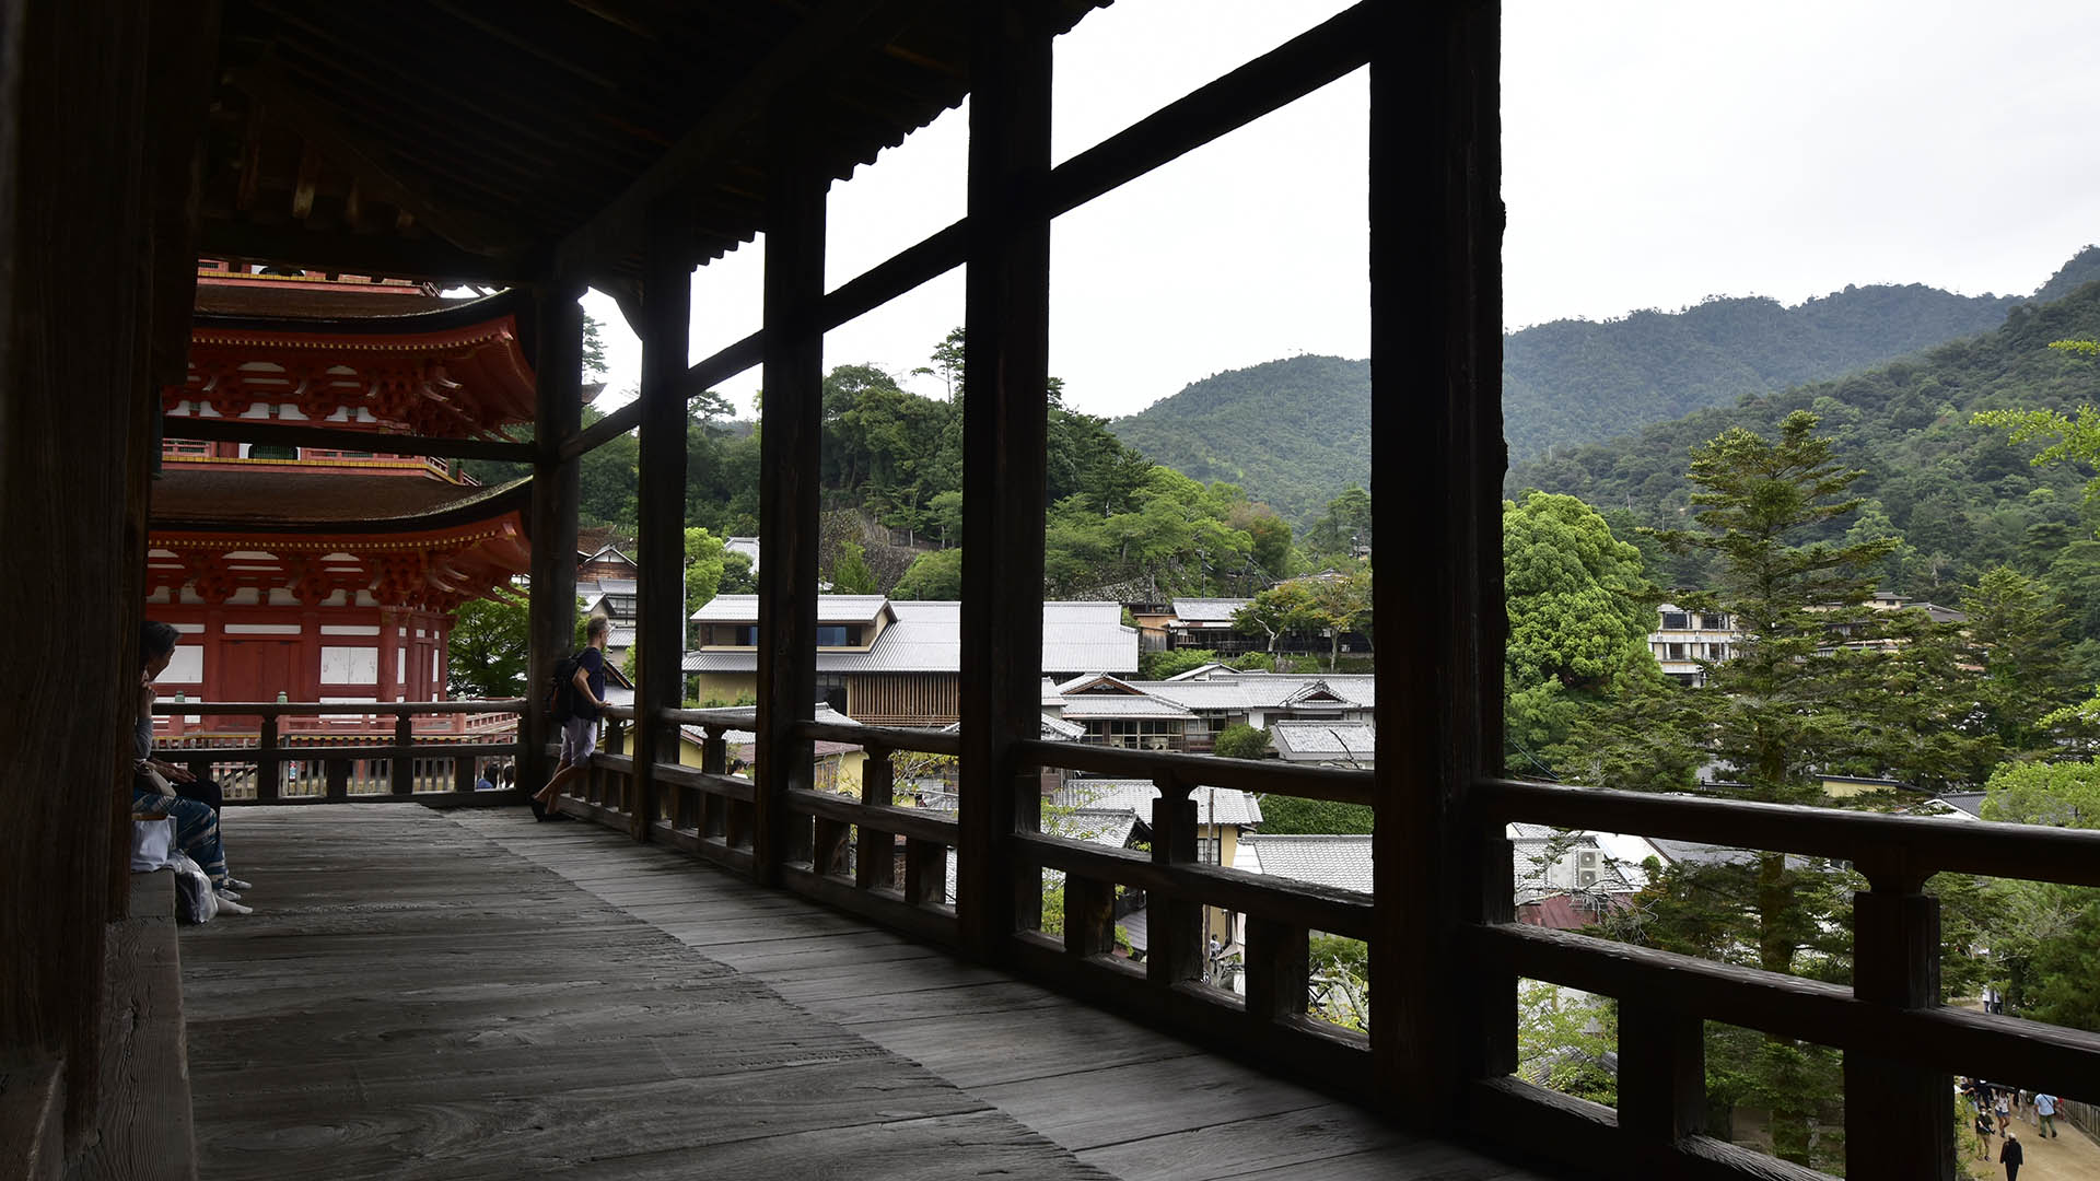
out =
<path fill-rule="evenodd" d="M 634 828 L 634 759 L 624 750 L 632 710 L 607 710 L 603 750 L 565 801 L 565 809 L 615 828 Z M 729 729 L 754 729 L 756 710 L 668 710 L 668 721 L 704 727 L 701 769 L 657 763 L 659 784 L 649 836 L 706 859 L 754 872 L 752 826 L 760 784 L 724 773 Z M 960 754 L 956 733 L 867 725 L 800 723 L 798 738 L 863 748 L 859 799 L 790 786 L 794 838 L 781 885 L 861 914 L 884 927 L 943 946 L 960 941 L 949 902 L 949 851 L 960 843 L 953 815 L 897 807 L 899 752 Z M 1369 1040 L 1308 1015 L 1312 1007 L 1310 937 L 1373 937 L 1371 895 L 1203 864 L 1197 855 L 1201 817 L 1193 792 L 1201 786 L 1247 792 L 1369 803 L 1371 775 L 1327 767 L 1289 767 L 1069 742 L 1023 742 L 1031 767 L 1151 780 L 1159 788 L 1149 826 L 1151 851 L 1109 849 L 1042 832 L 1042 775 L 1016 775 L 1027 832 L 1008 872 L 1029 927 L 1014 937 L 1014 967 L 1096 1002 L 1168 1023 L 1239 1055 L 1287 1061 L 1300 1074 L 1336 1086 L 1367 1086 Z M 668 788 L 668 790 L 664 790 Z M 903 855 L 897 855 L 901 843 Z M 1042 931 L 1044 870 L 1065 874 L 1063 937 Z M 1115 891 L 1142 891 L 1147 954 L 1134 962 L 1115 954 Z M 1205 908 L 1247 916 L 1245 994 L 1205 983 Z"/>

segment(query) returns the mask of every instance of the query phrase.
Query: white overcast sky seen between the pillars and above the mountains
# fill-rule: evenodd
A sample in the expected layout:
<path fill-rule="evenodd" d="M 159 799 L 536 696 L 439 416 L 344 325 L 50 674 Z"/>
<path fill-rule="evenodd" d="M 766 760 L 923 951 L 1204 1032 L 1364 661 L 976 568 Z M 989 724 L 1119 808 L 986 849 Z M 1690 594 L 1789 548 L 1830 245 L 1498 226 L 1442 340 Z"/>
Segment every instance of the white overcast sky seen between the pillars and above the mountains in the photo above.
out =
<path fill-rule="evenodd" d="M 1058 40 L 1056 158 L 1344 6 L 1117 0 Z M 2026 294 L 2100 240 L 2094 44 L 2081 0 L 1506 0 L 1504 319 L 1846 284 Z M 1220 370 L 1363 357 L 1365 103 L 1359 71 L 1058 219 L 1067 401 L 1119 416 Z M 966 132 L 949 111 L 832 189 L 832 286 L 964 214 Z M 760 240 L 699 269 L 693 359 L 758 328 L 762 263 Z M 924 366 L 962 292 L 958 269 L 834 330 L 825 366 Z M 586 307 L 609 389 L 632 387 L 617 307 Z M 758 380 L 720 389 L 748 408 Z"/>

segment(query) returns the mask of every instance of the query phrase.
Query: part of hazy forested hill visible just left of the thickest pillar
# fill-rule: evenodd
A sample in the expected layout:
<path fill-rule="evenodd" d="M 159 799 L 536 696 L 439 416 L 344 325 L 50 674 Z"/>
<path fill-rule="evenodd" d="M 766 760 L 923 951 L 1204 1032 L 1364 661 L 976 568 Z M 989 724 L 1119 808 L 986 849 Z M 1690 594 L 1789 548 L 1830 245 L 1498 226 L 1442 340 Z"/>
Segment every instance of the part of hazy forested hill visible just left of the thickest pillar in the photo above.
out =
<path fill-rule="evenodd" d="M 1306 525 L 1346 485 L 1371 483 L 1371 361 L 1287 357 L 1226 370 L 1109 429 L 1153 462 L 1237 483 Z"/>

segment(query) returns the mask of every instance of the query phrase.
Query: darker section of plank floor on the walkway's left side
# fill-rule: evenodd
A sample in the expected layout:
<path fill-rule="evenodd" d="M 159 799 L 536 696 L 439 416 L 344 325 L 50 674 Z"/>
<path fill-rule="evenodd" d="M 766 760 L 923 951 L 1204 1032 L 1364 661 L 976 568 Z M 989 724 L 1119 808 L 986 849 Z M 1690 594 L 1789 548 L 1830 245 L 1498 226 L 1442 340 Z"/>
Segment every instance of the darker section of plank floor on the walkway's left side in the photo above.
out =
<path fill-rule="evenodd" d="M 229 813 L 256 914 L 181 944 L 204 1177 L 645 1177 L 672 1160 L 756 1177 L 746 1162 L 790 1152 L 1102 1177 L 472 828 L 286 811 Z M 653 910 L 682 878 L 653 880 Z M 781 927 L 802 939 L 769 944 L 857 939 L 827 914 Z"/>

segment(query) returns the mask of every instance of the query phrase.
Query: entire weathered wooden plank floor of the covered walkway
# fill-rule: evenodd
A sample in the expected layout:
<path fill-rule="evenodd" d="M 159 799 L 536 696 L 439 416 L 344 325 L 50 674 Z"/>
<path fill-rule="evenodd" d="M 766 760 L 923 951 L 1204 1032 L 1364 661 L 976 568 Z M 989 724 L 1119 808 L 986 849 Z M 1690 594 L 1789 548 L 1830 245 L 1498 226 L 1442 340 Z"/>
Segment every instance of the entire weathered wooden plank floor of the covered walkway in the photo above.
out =
<path fill-rule="evenodd" d="M 1533 1177 L 995 971 L 523 809 L 229 809 L 183 935 L 200 1170 Z"/>

